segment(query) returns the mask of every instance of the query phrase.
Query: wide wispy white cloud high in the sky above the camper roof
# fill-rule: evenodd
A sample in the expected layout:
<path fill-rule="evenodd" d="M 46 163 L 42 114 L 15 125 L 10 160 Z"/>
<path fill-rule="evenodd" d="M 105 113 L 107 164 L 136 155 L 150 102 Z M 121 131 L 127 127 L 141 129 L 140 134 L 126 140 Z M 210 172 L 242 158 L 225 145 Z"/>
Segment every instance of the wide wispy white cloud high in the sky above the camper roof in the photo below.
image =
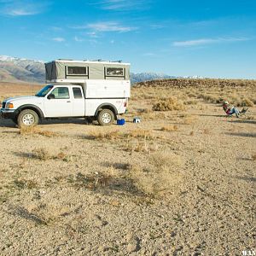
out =
<path fill-rule="evenodd" d="M 85 26 L 73 26 L 75 29 L 90 29 L 93 32 L 90 32 L 91 37 L 96 36 L 96 32 L 131 32 L 136 30 L 137 27 L 132 26 L 122 26 L 119 22 L 115 21 L 105 21 L 105 22 L 96 22 L 90 23 Z"/>

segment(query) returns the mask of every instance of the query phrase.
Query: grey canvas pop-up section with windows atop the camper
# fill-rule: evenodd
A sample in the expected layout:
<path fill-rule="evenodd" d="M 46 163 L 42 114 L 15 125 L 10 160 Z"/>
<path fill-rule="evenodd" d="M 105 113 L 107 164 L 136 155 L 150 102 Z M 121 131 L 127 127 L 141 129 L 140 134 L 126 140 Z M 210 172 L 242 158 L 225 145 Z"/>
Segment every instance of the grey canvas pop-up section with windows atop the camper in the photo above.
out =
<path fill-rule="evenodd" d="M 130 80 L 130 64 L 110 61 L 66 61 L 45 63 L 46 81 L 65 80 Z"/>

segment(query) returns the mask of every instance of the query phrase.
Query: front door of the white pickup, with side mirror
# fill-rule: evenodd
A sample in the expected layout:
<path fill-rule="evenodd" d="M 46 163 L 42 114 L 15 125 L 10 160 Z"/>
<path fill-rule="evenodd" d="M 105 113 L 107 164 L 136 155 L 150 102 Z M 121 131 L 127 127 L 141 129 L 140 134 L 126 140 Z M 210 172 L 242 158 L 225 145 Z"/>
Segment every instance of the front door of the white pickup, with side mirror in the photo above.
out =
<path fill-rule="evenodd" d="M 70 117 L 73 116 L 73 104 L 70 86 L 55 86 L 44 98 L 45 117 Z"/>

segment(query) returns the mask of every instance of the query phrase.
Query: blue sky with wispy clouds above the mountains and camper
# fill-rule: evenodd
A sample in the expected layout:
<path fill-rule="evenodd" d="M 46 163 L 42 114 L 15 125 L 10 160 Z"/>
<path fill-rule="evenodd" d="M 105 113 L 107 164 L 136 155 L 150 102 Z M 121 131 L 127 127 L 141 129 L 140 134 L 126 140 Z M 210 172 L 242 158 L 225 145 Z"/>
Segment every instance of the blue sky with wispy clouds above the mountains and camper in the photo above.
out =
<path fill-rule="evenodd" d="M 0 55 L 256 79 L 255 0 L 0 0 Z"/>

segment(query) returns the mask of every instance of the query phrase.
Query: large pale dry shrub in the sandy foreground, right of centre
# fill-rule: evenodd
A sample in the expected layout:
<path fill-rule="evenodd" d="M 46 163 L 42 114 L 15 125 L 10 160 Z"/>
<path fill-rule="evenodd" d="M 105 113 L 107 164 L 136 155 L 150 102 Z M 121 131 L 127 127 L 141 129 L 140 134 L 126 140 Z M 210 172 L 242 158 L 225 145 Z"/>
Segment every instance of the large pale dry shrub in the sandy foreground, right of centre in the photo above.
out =
<path fill-rule="evenodd" d="M 183 165 L 180 156 L 170 153 L 156 153 L 149 158 L 151 167 L 143 169 L 132 166 L 129 177 L 144 195 L 157 197 L 165 194 L 180 182 L 181 175 L 178 172 Z"/>

